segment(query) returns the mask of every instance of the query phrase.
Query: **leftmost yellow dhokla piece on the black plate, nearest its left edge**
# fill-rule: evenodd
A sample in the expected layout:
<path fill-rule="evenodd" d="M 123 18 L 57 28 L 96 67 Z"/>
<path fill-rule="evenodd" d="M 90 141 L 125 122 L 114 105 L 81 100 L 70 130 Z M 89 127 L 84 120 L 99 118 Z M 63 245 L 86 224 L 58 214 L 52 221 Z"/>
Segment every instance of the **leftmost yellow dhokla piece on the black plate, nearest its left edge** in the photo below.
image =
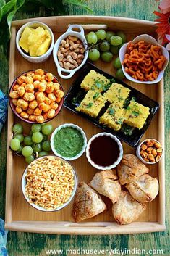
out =
<path fill-rule="evenodd" d="M 105 97 L 102 96 L 99 91 L 90 90 L 85 94 L 85 98 L 76 110 L 90 115 L 91 117 L 97 117 L 105 102 Z"/>

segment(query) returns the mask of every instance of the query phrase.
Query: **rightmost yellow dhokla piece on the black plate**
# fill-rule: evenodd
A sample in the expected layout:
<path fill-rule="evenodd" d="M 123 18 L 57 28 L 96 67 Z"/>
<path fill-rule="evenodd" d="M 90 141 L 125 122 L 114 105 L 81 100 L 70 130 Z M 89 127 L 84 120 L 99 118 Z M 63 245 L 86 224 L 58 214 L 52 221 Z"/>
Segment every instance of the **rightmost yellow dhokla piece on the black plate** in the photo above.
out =
<path fill-rule="evenodd" d="M 125 112 L 124 123 L 139 129 L 143 128 L 143 125 L 150 113 L 149 110 L 149 107 L 145 107 L 132 100 Z"/>

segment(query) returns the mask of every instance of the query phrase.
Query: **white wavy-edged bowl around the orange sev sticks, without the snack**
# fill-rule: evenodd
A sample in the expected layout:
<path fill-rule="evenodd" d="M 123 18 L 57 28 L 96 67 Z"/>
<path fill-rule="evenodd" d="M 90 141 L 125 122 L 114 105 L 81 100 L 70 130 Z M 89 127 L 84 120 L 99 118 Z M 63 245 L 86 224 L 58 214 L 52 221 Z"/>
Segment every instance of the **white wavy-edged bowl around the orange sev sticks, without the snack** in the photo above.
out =
<path fill-rule="evenodd" d="M 145 42 L 150 43 L 150 44 L 159 45 L 155 38 L 153 38 L 152 36 L 149 36 L 147 34 L 143 34 L 143 35 L 137 36 L 135 39 L 132 40 L 132 43 L 135 44 L 138 41 L 145 41 Z M 124 44 L 121 47 L 120 51 L 119 51 L 119 58 L 120 58 L 121 63 L 124 61 L 124 56 L 127 53 L 127 45 L 128 44 L 129 44 L 129 42 L 127 44 Z M 161 45 L 159 45 L 159 46 L 161 46 Z M 166 66 L 168 65 L 168 62 L 169 62 L 169 52 L 163 46 L 161 46 L 161 49 L 162 49 L 163 56 L 166 57 L 166 62 L 164 64 L 163 70 L 161 70 L 159 72 L 158 78 L 156 78 L 156 80 L 153 80 L 153 81 L 140 81 L 140 80 L 137 80 L 135 78 L 132 78 L 132 76 L 129 75 L 124 70 L 124 65 L 122 65 L 122 70 L 123 70 L 123 73 L 126 76 L 126 78 L 131 80 L 132 82 L 135 82 L 135 83 L 145 83 L 145 84 L 158 83 L 163 78 L 164 70 L 166 69 Z"/>

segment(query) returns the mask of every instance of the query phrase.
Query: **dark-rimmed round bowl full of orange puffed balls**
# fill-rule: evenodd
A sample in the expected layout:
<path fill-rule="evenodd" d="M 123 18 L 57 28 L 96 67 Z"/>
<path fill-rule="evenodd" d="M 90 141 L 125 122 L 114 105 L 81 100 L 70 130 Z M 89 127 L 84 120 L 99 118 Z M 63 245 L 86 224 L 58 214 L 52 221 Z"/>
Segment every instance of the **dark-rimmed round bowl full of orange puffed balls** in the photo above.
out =
<path fill-rule="evenodd" d="M 42 69 L 19 75 L 9 89 L 9 104 L 27 123 L 46 123 L 59 114 L 64 91 L 59 80 Z"/>

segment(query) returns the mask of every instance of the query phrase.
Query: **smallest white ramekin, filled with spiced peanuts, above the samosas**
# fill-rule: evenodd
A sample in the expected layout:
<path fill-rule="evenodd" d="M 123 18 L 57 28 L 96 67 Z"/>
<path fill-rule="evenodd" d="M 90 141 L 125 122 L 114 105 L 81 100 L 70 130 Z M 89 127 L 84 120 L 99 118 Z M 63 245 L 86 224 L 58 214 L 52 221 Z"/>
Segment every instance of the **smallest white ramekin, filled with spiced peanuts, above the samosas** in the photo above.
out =
<path fill-rule="evenodd" d="M 153 165 L 161 160 L 163 148 L 156 139 L 145 139 L 137 146 L 136 155 L 144 164 Z"/>

